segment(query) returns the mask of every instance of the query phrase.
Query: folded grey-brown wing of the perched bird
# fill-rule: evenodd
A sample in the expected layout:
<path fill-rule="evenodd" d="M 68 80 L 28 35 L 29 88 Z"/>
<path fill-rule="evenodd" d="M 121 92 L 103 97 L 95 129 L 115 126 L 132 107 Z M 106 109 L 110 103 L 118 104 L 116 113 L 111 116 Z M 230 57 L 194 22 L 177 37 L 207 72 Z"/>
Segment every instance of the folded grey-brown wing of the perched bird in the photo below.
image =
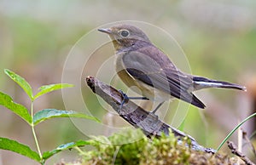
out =
<path fill-rule="evenodd" d="M 125 53 L 122 62 L 131 77 L 192 105 L 205 107 L 188 91 L 193 80 L 179 71 L 166 54 L 153 45 Z"/>

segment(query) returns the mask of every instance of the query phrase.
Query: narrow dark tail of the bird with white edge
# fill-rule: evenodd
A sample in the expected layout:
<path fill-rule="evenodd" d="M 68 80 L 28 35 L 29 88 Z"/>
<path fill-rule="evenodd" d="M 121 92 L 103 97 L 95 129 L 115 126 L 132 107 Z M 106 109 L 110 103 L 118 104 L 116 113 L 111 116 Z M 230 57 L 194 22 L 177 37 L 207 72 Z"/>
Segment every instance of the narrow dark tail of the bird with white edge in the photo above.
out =
<path fill-rule="evenodd" d="M 201 88 L 234 88 L 238 90 L 246 91 L 247 88 L 235 83 L 222 82 L 217 80 L 211 80 L 206 77 L 193 77 L 194 88 L 199 90 Z"/>

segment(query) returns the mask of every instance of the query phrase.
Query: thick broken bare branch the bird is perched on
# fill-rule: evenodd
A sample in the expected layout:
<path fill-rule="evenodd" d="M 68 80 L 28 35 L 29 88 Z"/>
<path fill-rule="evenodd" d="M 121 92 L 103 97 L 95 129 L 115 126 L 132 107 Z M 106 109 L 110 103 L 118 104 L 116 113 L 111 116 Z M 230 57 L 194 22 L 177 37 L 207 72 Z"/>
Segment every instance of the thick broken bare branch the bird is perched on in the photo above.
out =
<path fill-rule="evenodd" d="M 198 145 L 194 138 L 160 121 L 154 114 L 143 110 L 143 108 L 136 105 L 131 100 L 127 100 L 127 102 L 122 105 L 122 108 L 120 108 L 122 100 L 124 99 L 123 95 L 119 90 L 108 84 L 102 83 L 94 77 L 86 77 L 86 83 L 95 94 L 101 96 L 103 100 L 111 105 L 113 110 L 117 111 L 120 117 L 123 117 L 125 121 L 129 122 L 135 128 L 141 128 L 143 133 L 148 137 L 160 136 L 162 133 L 169 135 L 169 131 L 171 130 L 179 140 L 181 140 L 182 137 L 189 137 L 189 139 L 191 139 L 192 148 L 197 151 L 216 152 L 211 148 Z"/>

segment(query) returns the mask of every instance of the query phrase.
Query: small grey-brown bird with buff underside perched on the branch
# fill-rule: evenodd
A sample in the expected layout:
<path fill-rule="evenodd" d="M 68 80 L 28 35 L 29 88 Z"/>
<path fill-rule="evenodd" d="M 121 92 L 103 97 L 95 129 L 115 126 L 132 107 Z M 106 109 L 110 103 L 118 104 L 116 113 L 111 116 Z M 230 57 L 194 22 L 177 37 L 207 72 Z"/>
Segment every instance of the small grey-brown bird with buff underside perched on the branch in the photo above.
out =
<path fill-rule="evenodd" d="M 153 113 L 171 98 L 205 108 L 206 105 L 192 93 L 201 88 L 246 90 L 234 83 L 193 76 L 178 70 L 166 54 L 155 47 L 136 26 L 119 25 L 98 31 L 107 33 L 112 39 L 116 50 L 116 71 L 121 80 L 128 87 L 137 86 L 149 100 L 160 101 Z"/>

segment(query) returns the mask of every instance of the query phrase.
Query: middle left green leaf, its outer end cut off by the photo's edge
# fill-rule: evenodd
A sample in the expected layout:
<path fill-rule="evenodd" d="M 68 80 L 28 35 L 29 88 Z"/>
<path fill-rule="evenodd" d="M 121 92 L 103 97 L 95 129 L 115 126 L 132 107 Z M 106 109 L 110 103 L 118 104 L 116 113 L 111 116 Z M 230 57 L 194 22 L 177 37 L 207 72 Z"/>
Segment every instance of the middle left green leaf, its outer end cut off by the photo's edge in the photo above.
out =
<path fill-rule="evenodd" d="M 23 118 L 29 124 L 32 123 L 32 117 L 28 113 L 25 106 L 17 104 L 8 94 L 0 92 L 0 105 L 8 108 L 10 111 L 15 112 L 16 115 Z"/>

